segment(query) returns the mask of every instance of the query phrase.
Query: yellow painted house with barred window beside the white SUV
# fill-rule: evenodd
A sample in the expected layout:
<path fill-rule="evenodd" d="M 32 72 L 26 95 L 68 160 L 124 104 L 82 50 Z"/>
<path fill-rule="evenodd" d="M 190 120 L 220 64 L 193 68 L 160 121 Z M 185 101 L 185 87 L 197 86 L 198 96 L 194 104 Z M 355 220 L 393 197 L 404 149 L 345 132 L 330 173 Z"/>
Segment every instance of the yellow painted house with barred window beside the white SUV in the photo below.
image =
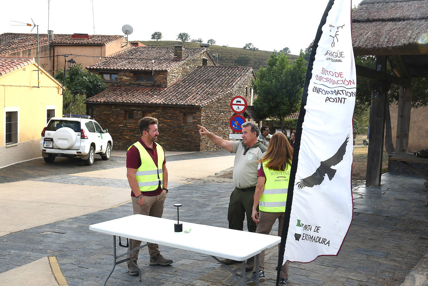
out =
<path fill-rule="evenodd" d="M 0 57 L 0 168 L 42 156 L 42 129 L 62 116 L 61 88 L 34 58 Z"/>

